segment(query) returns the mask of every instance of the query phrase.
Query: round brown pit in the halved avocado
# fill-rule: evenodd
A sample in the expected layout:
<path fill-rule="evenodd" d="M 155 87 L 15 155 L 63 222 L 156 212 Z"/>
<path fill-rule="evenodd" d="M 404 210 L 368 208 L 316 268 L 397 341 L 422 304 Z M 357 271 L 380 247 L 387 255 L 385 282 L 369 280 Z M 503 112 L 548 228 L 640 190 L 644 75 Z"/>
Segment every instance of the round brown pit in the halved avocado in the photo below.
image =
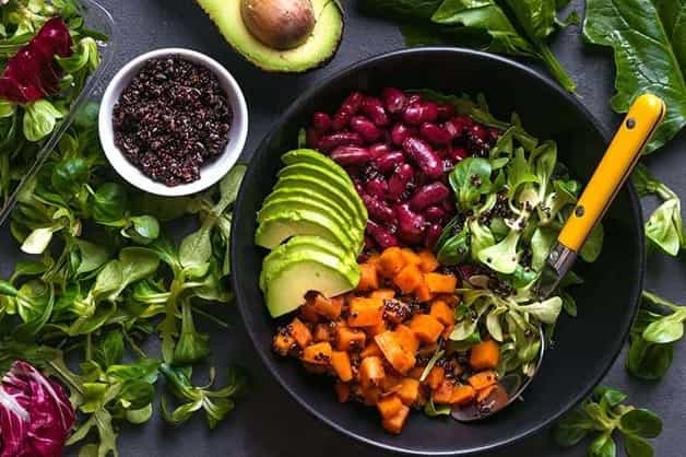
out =
<path fill-rule="evenodd" d="M 252 36 L 277 50 L 300 46 L 316 24 L 310 0 L 240 0 L 240 15 Z"/>

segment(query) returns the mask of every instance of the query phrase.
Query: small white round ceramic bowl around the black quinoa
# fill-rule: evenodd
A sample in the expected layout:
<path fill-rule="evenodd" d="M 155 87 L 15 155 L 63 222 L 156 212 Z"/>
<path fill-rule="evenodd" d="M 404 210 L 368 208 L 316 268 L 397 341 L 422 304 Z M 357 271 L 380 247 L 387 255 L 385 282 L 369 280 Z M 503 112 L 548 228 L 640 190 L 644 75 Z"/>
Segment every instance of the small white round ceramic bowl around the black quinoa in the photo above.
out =
<path fill-rule="evenodd" d="M 189 184 L 169 187 L 162 183 L 155 181 L 143 172 L 138 169 L 131 162 L 127 160 L 123 153 L 115 145 L 114 128 L 113 128 L 113 109 L 121 92 L 129 85 L 129 82 L 139 72 L 141 67 L 150 60 L 166 56 L 180 56 L 191 62 L 200 63 L 216 74 L 220 84 L 228 96 L 228 102 L 233 110 L 233 120 L 228 131 L 228 143 L 222 155 L 208 161 L 200 167 L 200 179 Z M 133 186 L 146 192 L 159 196 L 177 197 L 196 194 L 206 189 L 217 183 L 234 166 L 243 149 L 246 144 L 248 136 L 248 107 L 243 92 L 238 83 L 230 73 L 216 60 L 184 48 L 165 48 L 143 54 L 127 63 L 115 78 L 110 81 L 103 101 L 98 118 L 98 128 L 100 133 L 100 142 L 105 150 L 105 155 L 111 166 L 119 175 L 131 183 Z"/>

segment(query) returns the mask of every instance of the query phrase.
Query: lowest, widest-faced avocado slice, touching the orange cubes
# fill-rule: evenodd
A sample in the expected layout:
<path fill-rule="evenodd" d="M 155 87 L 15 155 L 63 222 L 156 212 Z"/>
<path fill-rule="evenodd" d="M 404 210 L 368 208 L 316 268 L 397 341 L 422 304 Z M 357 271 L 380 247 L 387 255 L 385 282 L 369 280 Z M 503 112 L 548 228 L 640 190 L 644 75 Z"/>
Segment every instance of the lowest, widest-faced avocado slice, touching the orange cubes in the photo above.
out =
<path fill-rule="evenodd" d="M 267 307 L 272 317 L 297 309 L 309 291 L 336 296 L 355 289 L 359 282 L 359 268 L 351 270 L 336 257 L 318 249 L 298 249 L 280 265 L 265 283 Z"/>

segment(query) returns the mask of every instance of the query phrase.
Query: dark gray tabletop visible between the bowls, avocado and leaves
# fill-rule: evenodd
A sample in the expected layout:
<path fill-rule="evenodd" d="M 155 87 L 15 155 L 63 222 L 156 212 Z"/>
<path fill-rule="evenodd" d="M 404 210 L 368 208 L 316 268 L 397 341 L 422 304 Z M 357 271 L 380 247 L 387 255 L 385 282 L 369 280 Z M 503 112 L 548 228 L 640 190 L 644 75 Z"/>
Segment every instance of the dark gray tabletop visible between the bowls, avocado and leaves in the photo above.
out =
<path fill-rule="evenodd" d="M 279 115 L 306 89 L 326 80 L 333 72 L 360 59 L 403 47 L 395 26 L 362 16 L 353 0 L 346 4 L 345 36 L 331 63 L 318 71 L 295 77 L 264 73 L 244 61 L 224 42 L 214 25 L 191 0 L 102 0 L 117 22 L 120 47 L 111 74 L 141 52 L 161 47 L 187 47 L 205 52 L 234 74 L 243 86 L 250 110 L 250 131 L 245 157 L 248 159 Z M 572 2 L 578 10 L 582 0 Z M 608 128 L 620 118 L 612 113 L 608 101 L 613 91 L 612 57 L 589 49 L 581 42 L 578 27 L 563 31 L 554 50 L 579 83 L 582 102 Z M 110 74 L 110 75 L 111 75 Z M 392 82 L 389 82 L 392 83 Z M 686 196 L 686 134 L 650 156 L 647 163 L 677 194 Z M 648 201 L 646 210 L 654 207 Z M 0 236 L 0 276 L 10 271 L 16 246 L 7 230 Z M 653 255 L 648 262 L 647 286 L 676 302 L 686 303 L 686 256 L 673 259 Z M 580 304 L 582 307 L 583 304 Z M 229 361 L 247 366 L 252 374 L 249 395 L 222 425 L 209 431 L 200 418 L 180 430 L 155 419 L 144 426 L 126 427 L 119 436 L 120 455 L 130 456 L 236 456 L 236 457 L 368 457 L 383 455 L 328 427 L 305 412 L 264 370 L 249 341 L 237 309 L 227 310 L 230 330 L 214 333 L 214 360 L 217 366 Z M 605 383 L 630 395 L 630 401 L 651 408 L 664 420 L 664 431 L 655 441 L 655 455 L 686 455 L 686 344 L 678 344 L 672 370 L 661 383 L 630 378 L 625 368 L 626 349 L 618 356 Z M 548 434 L 531 437 L 493 457 L 578 456 L 586 446 L 560 449 Z M 624 455 L 624 452 L 620 452 Z"/>

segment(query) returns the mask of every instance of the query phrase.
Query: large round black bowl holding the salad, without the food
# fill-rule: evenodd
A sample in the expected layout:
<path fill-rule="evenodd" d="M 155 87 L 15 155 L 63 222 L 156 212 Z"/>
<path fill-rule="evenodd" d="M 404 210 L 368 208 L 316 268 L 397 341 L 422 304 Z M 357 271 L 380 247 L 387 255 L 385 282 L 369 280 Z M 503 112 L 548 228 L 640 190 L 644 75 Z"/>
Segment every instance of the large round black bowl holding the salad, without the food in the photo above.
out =
<path fill-rule="evenodd" d="M 539 375 L 516 402 L 486 421 L 459 424 L 414 413 L 403 433 L 383 432 L 376 410 L 338 403 L 330 379 L 306 373 L 271 350 L 275 323 L 258 288 L 264 250 L 253 244 L 256 213 L 275 183 L 280 155 L 296 148 L 298 129 L 315 110 L 333 110 L 353 90 L 429 87 L 446 93 L 483 93 L 492 112 L 520 114 L 524 127 L 557 140 L 571 174 L 588 180 L 610 140 L 601 124 L 552 80 L 501 57 L 454 48 L 421 48 L 354 65 L 300 96 L 262 141 L 243 183 L 232 234 L 233 288 L 248 333 L 281 385 L 308 411 L 363 442 L 421 455 L 466 455 L 510 444 L 541 431 L 583 399 L 613 364 L 638 308 L 643 282 L 641 210 L 630 186 L 619 192 L 604 219 L 605 246 L 592 265 L 578 268 L 586 284 L 573 290 L 576 318 L 563 316 L 555 345 Z M 580 262 L 582 263 L 582 262 Z"/>

